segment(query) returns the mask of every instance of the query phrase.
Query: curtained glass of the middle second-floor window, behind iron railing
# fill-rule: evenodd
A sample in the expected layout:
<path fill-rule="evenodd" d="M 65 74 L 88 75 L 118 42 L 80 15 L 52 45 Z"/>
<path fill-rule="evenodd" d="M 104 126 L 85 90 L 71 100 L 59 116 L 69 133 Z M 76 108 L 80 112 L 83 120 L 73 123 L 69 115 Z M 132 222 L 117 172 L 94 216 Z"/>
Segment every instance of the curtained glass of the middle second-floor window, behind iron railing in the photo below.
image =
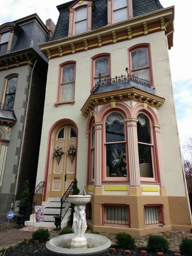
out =
<path fill-rule="evenodd" d="M 94 85 L 100 79 L 109 79 L 109 57 L 102 57 L 95 60 Z"/>

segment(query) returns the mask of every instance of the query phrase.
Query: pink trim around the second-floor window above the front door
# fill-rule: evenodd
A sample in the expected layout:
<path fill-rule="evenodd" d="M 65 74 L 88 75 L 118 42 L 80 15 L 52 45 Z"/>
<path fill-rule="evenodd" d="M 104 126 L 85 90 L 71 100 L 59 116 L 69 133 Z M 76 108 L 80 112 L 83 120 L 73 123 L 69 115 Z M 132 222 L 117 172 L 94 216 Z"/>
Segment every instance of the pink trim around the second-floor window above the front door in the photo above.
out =
<path fill-rule="evenodd" d="M 61 81 L 62 81 L 62 71 L 64 66 L 68 65 L 74 65 L 75 66 L 75 76 L 74 76 L 74 92 L 73 92 L 73 99 L 71 100 L 66 100 L 66 101 L 61 101 Z M 73 105 L 75 103 L 75 78 L 76 78 L 76 61 L 66 61 L 62 64 L 59 65 L 59 73 L 58 73 L 58 88 L 57 88 L 57 98 L 56 102 L 54 103 L 55 107 L 58 107 L 58 105 L 61 104 L 67 104 L 70 103 Z"/>

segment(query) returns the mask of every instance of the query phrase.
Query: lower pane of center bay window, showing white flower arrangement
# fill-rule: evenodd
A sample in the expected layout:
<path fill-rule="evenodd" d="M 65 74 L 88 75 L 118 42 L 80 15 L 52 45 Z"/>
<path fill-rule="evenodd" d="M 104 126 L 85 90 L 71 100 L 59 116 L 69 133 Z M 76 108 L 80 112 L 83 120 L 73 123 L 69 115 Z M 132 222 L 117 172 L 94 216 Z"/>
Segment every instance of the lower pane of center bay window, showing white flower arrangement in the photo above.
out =
<path fill-rule="evenodd" d="M 106 145 L 107 177 L 127 177 L 125 143 Z"/>

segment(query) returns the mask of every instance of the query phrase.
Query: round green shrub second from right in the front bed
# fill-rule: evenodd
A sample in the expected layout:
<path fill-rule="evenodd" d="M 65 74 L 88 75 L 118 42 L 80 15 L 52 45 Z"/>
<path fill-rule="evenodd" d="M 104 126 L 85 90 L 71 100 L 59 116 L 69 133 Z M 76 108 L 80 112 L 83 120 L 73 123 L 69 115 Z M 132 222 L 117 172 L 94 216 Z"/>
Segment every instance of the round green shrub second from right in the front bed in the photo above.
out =
<path fill-rule="evenodd" d="M 149 235 L 147 249 L 154 252 L 166 252 L 170 243 L 160 235 Z"/>

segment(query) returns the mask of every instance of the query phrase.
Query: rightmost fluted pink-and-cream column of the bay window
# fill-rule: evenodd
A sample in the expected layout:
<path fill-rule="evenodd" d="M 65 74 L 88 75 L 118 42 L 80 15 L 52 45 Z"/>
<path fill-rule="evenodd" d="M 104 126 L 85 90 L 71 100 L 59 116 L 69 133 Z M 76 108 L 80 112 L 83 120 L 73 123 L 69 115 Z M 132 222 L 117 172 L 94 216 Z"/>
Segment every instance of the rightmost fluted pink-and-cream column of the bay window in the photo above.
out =
<path fill-rule="evenodd" d="M 157 168 L 160 178 L 160 188 L 165 188 L 165 177 L 162 161 L 162 149 L 161 149 L 161 139 L 160 139 L 160 125 L 154 124 L 154 134 L 156 140 L 156 155 L 157 155 Z"/>

